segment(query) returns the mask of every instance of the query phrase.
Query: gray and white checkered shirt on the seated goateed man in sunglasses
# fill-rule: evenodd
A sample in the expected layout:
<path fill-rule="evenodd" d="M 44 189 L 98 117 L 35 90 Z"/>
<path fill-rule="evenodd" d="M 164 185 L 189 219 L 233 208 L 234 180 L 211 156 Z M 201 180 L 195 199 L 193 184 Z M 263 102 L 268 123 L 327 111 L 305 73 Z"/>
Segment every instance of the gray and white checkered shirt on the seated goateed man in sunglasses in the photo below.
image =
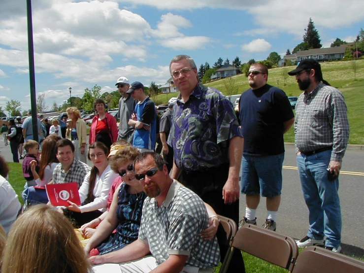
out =
<path fill-rule="evenodd" d="M 207 220 L 202 200 L 173 180 L 160 207 L 154 198 L 145 199 L 139 239 L 149 244 L 158 265 L 172 254 L 188 255 L 186 266 L 216 267 L 220 262 L 216 237 L 205 240 L 199 236 L 207 227 Z"/>

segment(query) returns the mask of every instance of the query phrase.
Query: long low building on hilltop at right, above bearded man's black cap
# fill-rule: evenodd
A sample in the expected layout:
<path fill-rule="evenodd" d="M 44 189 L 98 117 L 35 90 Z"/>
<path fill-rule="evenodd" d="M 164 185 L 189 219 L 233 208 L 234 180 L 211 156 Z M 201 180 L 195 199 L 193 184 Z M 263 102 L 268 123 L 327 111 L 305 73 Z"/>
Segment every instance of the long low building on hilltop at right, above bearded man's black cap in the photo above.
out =
<path fill-rule="evenodd" d="M 337 47 L 313 48 L 309 50 L 300 50 L 295 54 L 283 56 L 284 62 L 280 62 L 279 66 L 287 66 L 287 62 L 291 61 L 292 65 L 297 65 L 298 62 L 304 59 L 314 59 L 318 62 L 340 60 L 345 56 L 347 46 L 354 43 L 347 43 Z"/>

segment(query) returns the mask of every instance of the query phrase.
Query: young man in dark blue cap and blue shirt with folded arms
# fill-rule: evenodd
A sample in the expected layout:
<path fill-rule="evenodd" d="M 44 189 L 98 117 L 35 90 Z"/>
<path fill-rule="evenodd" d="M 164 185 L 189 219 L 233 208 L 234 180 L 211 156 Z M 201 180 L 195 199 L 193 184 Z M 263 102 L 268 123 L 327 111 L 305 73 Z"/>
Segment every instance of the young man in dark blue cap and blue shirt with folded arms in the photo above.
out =
<path fill-rule="evenodd" d="M 135 81 L 126 92 L 135 101 L 134 113 L 128 124 L 135 128 L 132 144 L 140 152 L 154 151 L 156 143 L 157 112 L 154 102 L 144 93 L 144 85 Z"/>

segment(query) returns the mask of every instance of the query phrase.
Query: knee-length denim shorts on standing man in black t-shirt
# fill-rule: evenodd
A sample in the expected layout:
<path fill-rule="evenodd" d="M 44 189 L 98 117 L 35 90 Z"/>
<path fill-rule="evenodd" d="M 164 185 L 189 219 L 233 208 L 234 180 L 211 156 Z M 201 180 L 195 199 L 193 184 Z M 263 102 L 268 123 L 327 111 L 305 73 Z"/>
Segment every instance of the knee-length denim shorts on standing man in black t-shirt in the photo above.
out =
<path fill-rule="evenodd" d="M 281 194 L 284 153 L 269 156 L 243 155 L 241 193 L 273 197 Z"/>

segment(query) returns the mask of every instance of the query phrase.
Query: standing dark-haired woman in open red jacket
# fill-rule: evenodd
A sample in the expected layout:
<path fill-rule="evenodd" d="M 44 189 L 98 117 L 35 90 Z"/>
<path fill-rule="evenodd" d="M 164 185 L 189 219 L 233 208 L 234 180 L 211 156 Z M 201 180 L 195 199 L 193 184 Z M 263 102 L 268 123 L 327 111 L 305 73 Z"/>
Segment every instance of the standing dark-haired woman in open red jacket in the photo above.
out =
<path fill-rule="evenodd" d="M 98 114 L 92 119 L 90 127 L 90 144 L 100 141 L 110 150 L 110 146 L 118 139 L 118 127 L 115 118 L 105 112 L 105 102 L 102 99 L 96 99 L 94 109 Z"/>

